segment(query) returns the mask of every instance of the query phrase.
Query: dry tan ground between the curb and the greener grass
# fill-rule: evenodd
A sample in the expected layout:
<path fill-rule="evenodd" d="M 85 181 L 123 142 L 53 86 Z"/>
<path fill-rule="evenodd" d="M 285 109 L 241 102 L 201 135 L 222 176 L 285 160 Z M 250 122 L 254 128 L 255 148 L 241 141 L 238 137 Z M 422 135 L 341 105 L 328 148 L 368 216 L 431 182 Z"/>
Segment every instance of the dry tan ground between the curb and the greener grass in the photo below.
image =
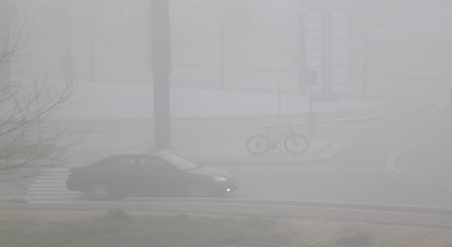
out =
<path fill-rule="evenodd" d="M 134 219 L 155 216 L 166 217 L 170 220 L 181 217 L 180 214 L 172 212 L 127 212 L 127 214 Z M 27 232 L 42 231 L 42 229 L 54 226 L 55 223 L 77 224 L 77 222 L 87 222 L 104 215 L 105 211 L 0 210 L 0 230 L 9 231 L 14 228 L 16 230 L 23 229 Z M 230 227 L 234 224 L 242 224 L 243 227 L 246 224 L 247 236 L 253 234 L 283 236 L 285 246 L 452 246 L 452 229 L 323 219 L 242 217 L 193 213 L 184 215 L 190 219 L 195 219 L 197 222 L 198 220 L 201 222 L 222 222 L 222 224 L 230 224 Z M 184 215 L 180 219 L 183 219 Z M 78 246 L 76 242 L 71 241 L 61 243 L 61 246 Z M 1 240 L 0 246 L 2 246 Z M 231 244 L 225 243 L 224 246 L 237 245 L 234 245 L 234 241 L 232 241 Z M 244 245 L 240 246 L 243 247 Z"/>

